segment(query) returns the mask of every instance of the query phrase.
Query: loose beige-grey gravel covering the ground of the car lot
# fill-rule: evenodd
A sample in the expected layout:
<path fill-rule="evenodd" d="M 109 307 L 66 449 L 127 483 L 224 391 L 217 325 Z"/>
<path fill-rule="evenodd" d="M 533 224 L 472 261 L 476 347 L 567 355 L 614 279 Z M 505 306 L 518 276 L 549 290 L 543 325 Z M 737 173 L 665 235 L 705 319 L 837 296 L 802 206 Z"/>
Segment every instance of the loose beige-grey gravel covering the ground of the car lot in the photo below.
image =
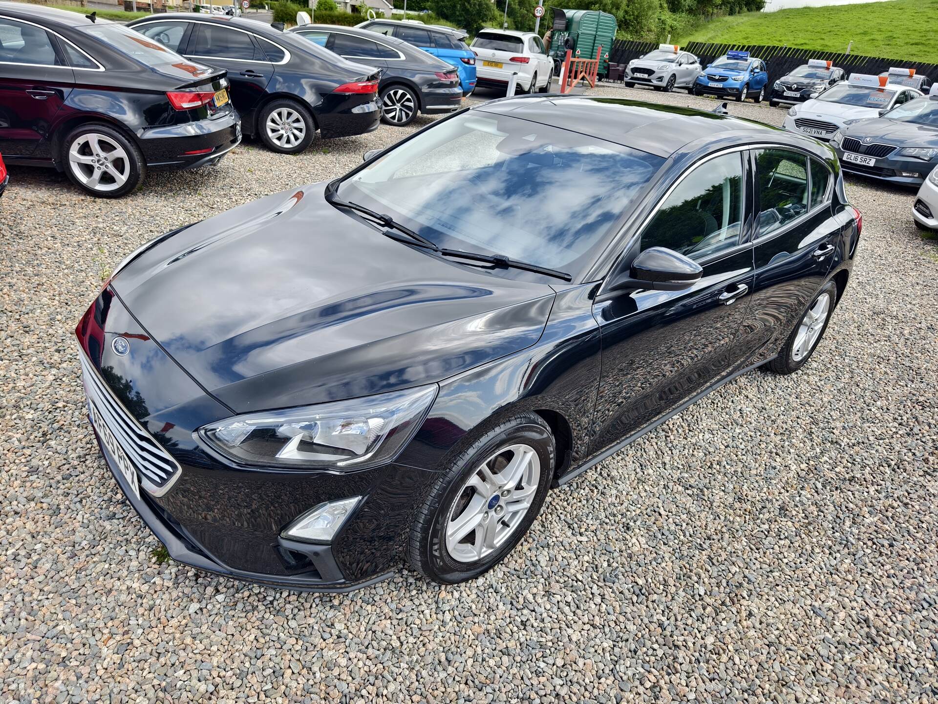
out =
<path fill-rule="evenodd" d="M 336 176 L 403 133 L 295 158 L 246 145 L 115 202 L 13 170 L 0 700 L 934 702 L 938 248 L 909 191 L 870 182 L 848 184 L 861 252 L 808 366 L 744 375 L 552 492 L 476 582 L 401 571 L 319 596 L 151 555 L 84 418 L 71 330 L 102 276 L 149 237 Z"/>

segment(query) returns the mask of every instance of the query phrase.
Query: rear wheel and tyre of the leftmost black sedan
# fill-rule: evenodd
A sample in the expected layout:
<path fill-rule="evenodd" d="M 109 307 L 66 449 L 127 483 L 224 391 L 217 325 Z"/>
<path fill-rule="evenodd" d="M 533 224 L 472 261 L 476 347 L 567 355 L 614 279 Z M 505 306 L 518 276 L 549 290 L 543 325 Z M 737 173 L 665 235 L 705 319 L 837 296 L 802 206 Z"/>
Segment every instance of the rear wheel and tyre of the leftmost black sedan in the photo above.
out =
<path fill-rule="evenodd" d="M 90 123 L 71 130 L 62 141 L 62 163 L 71 182 L 98 198 L 120 198 L 146 176 L 144 155 L 123 132 Z"/>

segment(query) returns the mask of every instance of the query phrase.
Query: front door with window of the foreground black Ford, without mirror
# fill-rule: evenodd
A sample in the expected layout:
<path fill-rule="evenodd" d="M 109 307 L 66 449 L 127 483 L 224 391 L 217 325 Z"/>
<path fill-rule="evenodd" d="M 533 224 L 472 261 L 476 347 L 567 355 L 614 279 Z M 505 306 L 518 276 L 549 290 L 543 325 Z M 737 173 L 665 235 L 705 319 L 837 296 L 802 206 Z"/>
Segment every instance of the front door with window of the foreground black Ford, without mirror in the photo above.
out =
<path fill-rule="evenodd" d="M 745 152 L 703 161 L 643 229 L 638 250 L 665 247 L 703 267 L 682 291 L 623 291 L 594 307 L 602 374 L 593 452 L 633 435 L 729 373 L 753 283 Z M 636 253 L 635 247 L 632 253 Z"/>

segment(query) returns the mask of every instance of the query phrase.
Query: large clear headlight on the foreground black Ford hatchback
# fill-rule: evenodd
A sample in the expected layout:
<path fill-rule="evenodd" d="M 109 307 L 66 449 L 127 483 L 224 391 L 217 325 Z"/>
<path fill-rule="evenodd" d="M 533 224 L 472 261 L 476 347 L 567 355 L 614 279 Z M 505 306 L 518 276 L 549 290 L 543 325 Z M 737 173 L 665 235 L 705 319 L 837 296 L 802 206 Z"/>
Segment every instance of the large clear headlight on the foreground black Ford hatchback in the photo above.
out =
<path fill-rule="evenodd" d="M 236 462 L 263 467 L 363 469 L 393 460 L 436 398 L 417 387 L 209 423 L 199 436 Z"/>

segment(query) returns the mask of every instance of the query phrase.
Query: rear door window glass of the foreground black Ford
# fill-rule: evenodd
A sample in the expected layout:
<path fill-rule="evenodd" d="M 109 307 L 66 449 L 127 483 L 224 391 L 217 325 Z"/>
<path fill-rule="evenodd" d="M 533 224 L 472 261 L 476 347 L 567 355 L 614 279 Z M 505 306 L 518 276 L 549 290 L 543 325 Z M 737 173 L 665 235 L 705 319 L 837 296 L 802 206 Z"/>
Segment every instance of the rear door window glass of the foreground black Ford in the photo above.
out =
<path fill-rule="evenodd" d="M 761 237 L 808 212 L 808 162 L 787 149 L 762 149 L 755 157 Z"/>

